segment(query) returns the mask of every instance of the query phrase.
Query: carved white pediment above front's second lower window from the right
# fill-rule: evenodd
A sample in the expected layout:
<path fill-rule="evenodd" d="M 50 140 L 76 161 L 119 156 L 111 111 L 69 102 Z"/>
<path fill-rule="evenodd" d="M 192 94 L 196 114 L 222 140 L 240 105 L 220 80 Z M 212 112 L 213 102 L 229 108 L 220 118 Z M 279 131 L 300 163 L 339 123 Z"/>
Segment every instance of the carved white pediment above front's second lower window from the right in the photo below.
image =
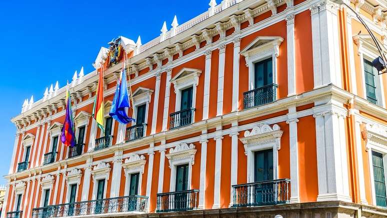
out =
<path fill-rule="evenodd" d="M 195 146 L 187 143 L 180 143 L 169 149 L 169 153 L 165 156 L 169 160 L 169 168 L 173 165 L 172 162 L 186 160 L 190 164 L 194 164 L 196 149 Z"/>

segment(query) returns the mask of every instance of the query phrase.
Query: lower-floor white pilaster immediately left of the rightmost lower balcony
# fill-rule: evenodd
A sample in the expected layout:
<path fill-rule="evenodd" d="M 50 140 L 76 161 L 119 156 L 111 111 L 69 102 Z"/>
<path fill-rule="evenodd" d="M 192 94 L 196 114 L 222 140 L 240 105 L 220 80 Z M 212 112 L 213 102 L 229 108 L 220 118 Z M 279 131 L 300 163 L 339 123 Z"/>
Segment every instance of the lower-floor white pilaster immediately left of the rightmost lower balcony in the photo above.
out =
<path fill-rule="evenodd" d="M 236 185 L 238 178 L 238 121 L 231 122 L 231 186 Z M 229 207 L 233 205 L 234 189 L 230 187 L 230 203 Z"/>

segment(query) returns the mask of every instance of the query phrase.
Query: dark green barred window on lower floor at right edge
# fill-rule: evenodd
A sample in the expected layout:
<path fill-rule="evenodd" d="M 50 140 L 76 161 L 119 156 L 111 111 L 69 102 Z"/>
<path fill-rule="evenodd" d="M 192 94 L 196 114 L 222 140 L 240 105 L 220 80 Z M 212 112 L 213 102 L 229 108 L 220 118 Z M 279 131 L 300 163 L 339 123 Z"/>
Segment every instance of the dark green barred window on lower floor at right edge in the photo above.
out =
<path fill-rule="evenodd" d="M 375 197 L 377 206 L 387 206 L 387 198 L 385 193 L 385 176 L 383 155 L 376 151 L 372 151 L 372 168 L 373 180 L 375 184 Z"/>

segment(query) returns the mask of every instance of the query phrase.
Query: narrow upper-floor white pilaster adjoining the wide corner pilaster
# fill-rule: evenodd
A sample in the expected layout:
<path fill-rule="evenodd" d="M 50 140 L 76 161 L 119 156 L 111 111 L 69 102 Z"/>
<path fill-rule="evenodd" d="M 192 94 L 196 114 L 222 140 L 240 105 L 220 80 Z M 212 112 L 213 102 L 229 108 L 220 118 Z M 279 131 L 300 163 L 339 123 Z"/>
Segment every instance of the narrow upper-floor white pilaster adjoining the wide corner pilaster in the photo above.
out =
<path fill-rule="evenodd" d="M 320 19 L 318 5 L 312 6 L 310 9 L 311 16 L 311 31 L 312 31 L 312 50 L 313 50 L 313 81 L 314 89 L 322 86 L 321 74 L 321 49 L 320 49 Z"/>

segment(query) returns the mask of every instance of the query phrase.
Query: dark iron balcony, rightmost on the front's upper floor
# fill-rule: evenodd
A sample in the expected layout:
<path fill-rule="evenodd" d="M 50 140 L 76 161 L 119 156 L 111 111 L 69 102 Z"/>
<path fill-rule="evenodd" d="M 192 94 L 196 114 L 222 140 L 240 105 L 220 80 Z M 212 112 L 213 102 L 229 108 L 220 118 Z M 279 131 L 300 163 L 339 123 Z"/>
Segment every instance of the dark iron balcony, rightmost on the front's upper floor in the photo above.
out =
<path fill-rule="evenodd" d="M 243 93 L 243 108 L 252 108 L 276 100 L 276 84 L 269 84 Z"/>

